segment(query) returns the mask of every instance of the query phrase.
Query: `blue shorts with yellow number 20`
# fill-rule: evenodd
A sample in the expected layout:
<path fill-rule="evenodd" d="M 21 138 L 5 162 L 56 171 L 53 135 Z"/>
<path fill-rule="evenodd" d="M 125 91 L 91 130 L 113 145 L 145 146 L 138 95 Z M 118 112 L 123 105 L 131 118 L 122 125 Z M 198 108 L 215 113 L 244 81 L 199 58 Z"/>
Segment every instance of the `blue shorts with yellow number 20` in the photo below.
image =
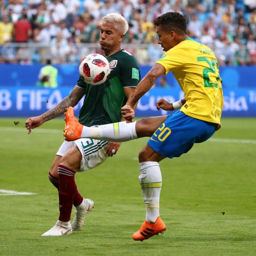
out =
<path fill-rule="evenodd" d="M 218 124 L 202 121 L 181 111 L 168 115 L 147 145 L 161 155 L 173 158 L 187 153 L 194 143 L 204 142 L 216 131 Z"/>

